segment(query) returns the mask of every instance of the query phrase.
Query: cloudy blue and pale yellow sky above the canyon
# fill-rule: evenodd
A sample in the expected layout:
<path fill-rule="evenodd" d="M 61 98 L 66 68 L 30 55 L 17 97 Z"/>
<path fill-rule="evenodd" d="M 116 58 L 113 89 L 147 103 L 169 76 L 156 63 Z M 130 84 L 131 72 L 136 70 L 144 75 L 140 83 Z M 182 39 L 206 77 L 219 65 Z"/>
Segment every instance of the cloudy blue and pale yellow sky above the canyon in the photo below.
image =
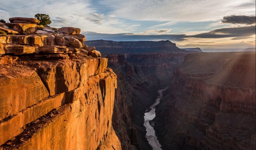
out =
<path fill-rule="evenodd" d="M 48 14 L 87 40 L 170 40 L 180 48 L 255 47 L 255 0 L 0 0 L 0 19 Z"/>

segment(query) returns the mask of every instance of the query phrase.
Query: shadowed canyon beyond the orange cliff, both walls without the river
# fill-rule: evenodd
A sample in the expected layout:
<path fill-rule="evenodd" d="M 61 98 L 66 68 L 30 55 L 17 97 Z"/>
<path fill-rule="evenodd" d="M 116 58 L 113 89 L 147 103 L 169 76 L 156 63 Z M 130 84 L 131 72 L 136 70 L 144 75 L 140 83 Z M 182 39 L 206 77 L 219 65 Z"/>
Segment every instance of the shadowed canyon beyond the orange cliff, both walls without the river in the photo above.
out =
<path fill-rule="evenodd" d="M 162 51 L 168 42 L 152 43 Z M 122 149 L 152 149 L 142 118 L 154 93 L 166 85 L 170 87 L 151 121 L 162 149 L 255 148 L 255 52 L 196 53 L 163 46 L 157 53 L 141 50 L 143 41 L 125 42 L 129 46 L 85 43 L 98 45 L 117 74 L 113 127 Z M 115 51 L 111 45 L 117 45 Z"/>

